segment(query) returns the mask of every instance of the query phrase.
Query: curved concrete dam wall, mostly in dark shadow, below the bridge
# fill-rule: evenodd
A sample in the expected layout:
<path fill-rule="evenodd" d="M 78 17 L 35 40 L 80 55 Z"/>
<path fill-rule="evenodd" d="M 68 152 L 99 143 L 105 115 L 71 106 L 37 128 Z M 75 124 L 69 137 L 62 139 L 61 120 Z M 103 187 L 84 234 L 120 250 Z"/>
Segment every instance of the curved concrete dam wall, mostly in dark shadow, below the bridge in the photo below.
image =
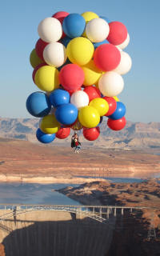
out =
<path fill-rule="evenodd" d="M 112 237 L 107 224 L 69 212 L 37 210 L 0 222 L 6 256 L 105 256 Z"/>

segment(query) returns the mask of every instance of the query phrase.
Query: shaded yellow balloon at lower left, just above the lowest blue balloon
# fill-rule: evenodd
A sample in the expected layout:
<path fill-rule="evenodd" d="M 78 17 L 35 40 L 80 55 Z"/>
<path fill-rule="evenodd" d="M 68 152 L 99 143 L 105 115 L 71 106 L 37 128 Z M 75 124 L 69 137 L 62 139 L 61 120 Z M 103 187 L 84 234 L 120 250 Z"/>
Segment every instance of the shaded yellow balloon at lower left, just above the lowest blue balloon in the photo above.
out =
<path fill-rule="evenodd" d="M 39 128 L 45 134 L 56 134 L 60 129 L 61 125 L 55 118 L 54 114 L 48 114 L 42 118 Z"/>

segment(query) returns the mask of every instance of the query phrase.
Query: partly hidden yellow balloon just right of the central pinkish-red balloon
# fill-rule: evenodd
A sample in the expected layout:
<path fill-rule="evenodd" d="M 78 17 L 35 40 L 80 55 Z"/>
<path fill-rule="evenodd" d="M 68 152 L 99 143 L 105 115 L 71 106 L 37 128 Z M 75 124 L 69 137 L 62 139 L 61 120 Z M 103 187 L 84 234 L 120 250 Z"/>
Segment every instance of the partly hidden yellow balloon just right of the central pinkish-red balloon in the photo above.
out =
<path fill-rule="evenodd" d="M 102 71 L 98 70 L 93 60 L 91 60 L 85 66 L 82 66 L 82 70 L 85 74 L 85 81 L 83 82 L 84 86 L 95 85 L 102 76 Z"/>

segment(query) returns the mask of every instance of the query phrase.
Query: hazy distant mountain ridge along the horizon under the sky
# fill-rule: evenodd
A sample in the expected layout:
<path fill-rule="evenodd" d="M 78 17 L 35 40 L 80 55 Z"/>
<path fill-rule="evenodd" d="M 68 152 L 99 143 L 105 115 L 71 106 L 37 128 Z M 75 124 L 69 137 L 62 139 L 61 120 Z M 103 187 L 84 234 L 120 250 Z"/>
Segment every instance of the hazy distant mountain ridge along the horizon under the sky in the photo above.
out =
<path fill-rule="evenodd" d="M 0 137 L 14 138 L 37 142 L 35 137 L 38 129 L 38 118 L 0 118 Z M 160 122 L 130 122 L 125 129 L 117 132 L 110 130 L 106 126 L 106 119 L 101 125 L 101 136 L 95 142 L 88 142 L 81 138 L 86 145 L 108 147 L 108 148 L 150 148 L 160 150 Z M 66 140 L 54 140 L 53 143 L 70 142 L 70 137 Z"/>

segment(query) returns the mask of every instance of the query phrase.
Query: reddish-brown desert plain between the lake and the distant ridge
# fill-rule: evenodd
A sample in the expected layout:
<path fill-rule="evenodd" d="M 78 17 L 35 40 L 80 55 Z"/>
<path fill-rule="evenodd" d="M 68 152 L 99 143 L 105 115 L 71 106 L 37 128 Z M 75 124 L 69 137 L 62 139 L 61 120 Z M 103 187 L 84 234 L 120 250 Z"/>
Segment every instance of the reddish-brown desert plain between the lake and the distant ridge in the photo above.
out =
<path fill-rule="evenodd" d="M 160 172 L 160 155 L 96 146 L 74 154 L 70 144 L 54 146 L 0 139 L 0 182 L 78 183 L 86 178 L 147 177 Z"/>

